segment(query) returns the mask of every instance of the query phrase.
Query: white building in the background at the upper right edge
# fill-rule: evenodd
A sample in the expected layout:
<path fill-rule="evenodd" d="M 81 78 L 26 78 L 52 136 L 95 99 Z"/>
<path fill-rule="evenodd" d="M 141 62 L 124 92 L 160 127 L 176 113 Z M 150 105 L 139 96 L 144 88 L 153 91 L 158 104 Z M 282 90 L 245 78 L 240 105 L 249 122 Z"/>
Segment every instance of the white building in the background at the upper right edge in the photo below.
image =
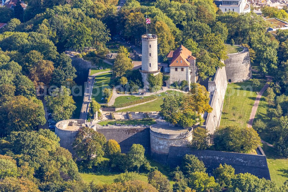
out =
<path fill-rule="evenodd" d="M 219 7 L 222 12 L 233 11 L 237 13 L 249 13 L 250 5 L 247 0 L 222 0 L 215 1 L 215 4 Z"/>

